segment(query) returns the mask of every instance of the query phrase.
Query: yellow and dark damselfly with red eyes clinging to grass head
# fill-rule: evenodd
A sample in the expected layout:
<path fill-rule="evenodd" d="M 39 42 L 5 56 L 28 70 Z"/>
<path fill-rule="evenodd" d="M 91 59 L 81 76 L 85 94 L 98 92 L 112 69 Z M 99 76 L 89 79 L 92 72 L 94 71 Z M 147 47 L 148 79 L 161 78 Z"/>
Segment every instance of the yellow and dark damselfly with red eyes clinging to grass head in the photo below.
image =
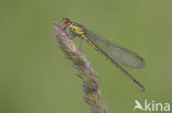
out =
<path fill-rule="evenodd" d="M 63 19 L 62 22 L 65 25 L 64 30 L 68 29 L 73 36 L 78 36 L 82 41 L 84 39 L 90 44 L 98 53 L 104 55 L 106 59 L 111 61 L 118 69 L 125 72 L 125 75 L 130 78 L 141 91 L 144 91 L 144 87 L 120 65 L 118 65 L 121 64 L 131 68 L 142 68 L 144 67 L 146 63 L 140 56 L 123 47 L 108 42 L 104 37 L 96 35 L 83 25 L 75 23 L 69 19 Z"/>

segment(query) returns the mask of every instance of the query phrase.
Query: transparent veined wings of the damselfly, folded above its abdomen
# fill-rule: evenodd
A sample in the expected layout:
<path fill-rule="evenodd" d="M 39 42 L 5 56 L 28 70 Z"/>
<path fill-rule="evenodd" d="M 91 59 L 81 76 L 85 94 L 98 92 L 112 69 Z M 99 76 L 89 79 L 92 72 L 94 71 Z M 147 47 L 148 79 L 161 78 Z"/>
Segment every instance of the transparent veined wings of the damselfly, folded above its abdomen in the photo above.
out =
<path fill-rule="evenodd" d="M 85 29 L 85 36 L 92 41 L 99 49 L 104 50 L 114 61 L 132 68 L 142 68 L 146 63 L 143 58 L 135 53 L 115 45 L 101 36 L 95 35 Z"/>

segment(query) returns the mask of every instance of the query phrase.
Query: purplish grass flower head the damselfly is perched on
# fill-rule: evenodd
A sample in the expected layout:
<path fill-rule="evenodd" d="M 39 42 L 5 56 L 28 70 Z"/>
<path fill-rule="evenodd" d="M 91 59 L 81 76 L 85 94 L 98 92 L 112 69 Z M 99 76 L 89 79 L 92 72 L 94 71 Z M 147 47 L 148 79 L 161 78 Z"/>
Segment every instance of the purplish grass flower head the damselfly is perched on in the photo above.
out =
<path fill-rule="evenodd" d="M 83 79 L 84 99 L 90 105 L 92 113 L 108 113 L 107 106 L 100 97 L 98 75 L 92 68 L 89 61 L 87 61 L 85 54 L 77 50 L 75 44 L 69 39 L 61 25 L 54 23 L 54 29 L 60 48 L 72 60 L 74 68 L 77 70 L 77 76 Z"/>

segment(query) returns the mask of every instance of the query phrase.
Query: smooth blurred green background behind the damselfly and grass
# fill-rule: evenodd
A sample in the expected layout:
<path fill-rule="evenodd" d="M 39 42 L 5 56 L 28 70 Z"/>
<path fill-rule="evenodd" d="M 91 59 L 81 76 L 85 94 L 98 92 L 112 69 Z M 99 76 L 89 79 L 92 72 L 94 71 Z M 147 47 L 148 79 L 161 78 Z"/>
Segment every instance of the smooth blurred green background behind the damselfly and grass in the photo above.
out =
<path fill-rule="evenodd" d="M 54 38 L 53 22 L 63 18 L 147 60 L 143 69 L 125 67 L 144 84 L 140 92 L 84 43 L 109 113 L 133 113 L 136 99 L 172 103 L 171 0 L 0 0 L 0 113 L 90 112 L 82 80 Z"/>

